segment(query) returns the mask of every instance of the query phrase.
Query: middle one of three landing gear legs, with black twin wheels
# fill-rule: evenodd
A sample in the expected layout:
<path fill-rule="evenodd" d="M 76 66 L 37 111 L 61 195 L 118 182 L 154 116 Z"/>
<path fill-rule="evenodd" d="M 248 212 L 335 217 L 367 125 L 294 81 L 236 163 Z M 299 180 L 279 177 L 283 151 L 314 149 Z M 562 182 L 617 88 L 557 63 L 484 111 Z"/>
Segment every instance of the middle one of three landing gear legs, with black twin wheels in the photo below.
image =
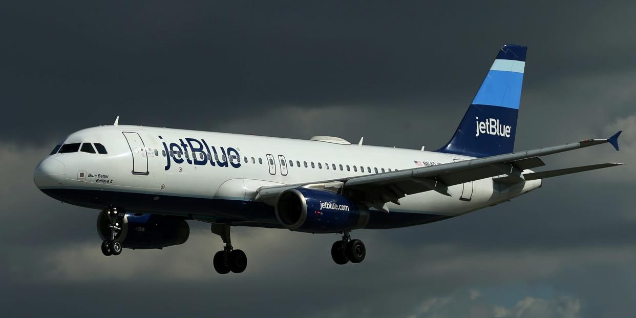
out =
<path fill-rule="evenodd" d="M 242 273 L 247 267 L 247 256 L 245 252 L 240 249 L 234 249 L 232 247 L 232 240 L 230 240 L 230 226 L 229 225 L 212 225 L 212 233 L 219 235 L 225 243 L 223 251 L 218 251 L 214 254 L 212 263 L 214 264 L 214 270 L 219 274 Z"/>

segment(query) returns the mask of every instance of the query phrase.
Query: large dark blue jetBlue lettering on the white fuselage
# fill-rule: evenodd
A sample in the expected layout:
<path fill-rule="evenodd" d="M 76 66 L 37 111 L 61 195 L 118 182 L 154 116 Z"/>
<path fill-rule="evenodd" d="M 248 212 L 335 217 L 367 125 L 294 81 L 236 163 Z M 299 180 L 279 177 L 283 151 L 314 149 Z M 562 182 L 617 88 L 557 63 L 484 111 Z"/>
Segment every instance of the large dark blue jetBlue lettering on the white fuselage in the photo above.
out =
<path fill-rule="evenodd" d="M 159 139 L 163 139 L 158 136 Z M 166 164 L 164 169 L 169 170 L 171 161 L 174 163 L 188 163 L 188 165 L 212 165 L 218 167 L 240 167 L 240 155 L 237 149 L 232 147 L 208 146 L 204 139 L 179 138 L 179 142 L 162 142 L 166 153 Z M 172 153 L 172 156 L 170 154 Z M 191 156 L 190 156 L 191 155 Z"/>

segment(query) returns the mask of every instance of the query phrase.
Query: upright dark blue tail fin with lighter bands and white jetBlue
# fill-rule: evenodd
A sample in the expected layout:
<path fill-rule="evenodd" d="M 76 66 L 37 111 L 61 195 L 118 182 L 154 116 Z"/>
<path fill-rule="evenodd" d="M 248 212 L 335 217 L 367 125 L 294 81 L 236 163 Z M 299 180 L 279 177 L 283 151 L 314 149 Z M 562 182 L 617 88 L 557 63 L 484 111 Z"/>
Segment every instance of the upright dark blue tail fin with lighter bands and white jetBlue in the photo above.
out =
<path fill-rule="evenodd" d="M 438 152 L 474 157 L 513 152 L 527 50 L 502 46 L 452 139 Z"/>

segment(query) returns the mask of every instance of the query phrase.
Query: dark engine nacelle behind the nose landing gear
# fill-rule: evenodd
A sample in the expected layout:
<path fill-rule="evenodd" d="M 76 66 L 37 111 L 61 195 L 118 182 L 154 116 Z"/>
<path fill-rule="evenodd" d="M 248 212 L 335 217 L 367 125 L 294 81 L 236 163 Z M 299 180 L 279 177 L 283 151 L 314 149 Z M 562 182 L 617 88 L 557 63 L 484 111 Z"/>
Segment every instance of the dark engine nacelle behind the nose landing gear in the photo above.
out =
<path fill-rule="evenodd" d="M 111 239 L 109 219 L 104 212 L 97 217 L 97 233 Z M 190 226 L 183 218 L 155 214 L 126 213 L 117 240 L 127 249 L 162 249 L 183 244 L 190 237 Z"/>

